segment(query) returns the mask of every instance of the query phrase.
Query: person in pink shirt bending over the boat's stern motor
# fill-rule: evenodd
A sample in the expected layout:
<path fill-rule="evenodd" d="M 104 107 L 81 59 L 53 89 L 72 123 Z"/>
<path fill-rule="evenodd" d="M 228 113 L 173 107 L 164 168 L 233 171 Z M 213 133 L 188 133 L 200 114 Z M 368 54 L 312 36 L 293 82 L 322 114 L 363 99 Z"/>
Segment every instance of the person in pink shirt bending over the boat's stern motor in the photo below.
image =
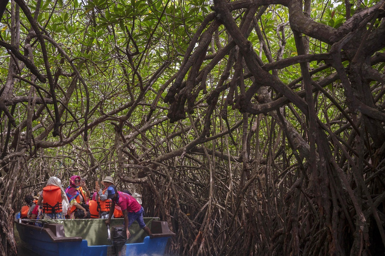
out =
<path fill-rule="evenodd" d="M 134 197 L 118 191 L 115 185 L 111 185 L 108 187 L 108 198 L 111 198 L 112 202 L 108 219 L 105 221 L 106 225 L 110 224 L 116 204 L 121 208 L 123 213 L 124 228 L 126 229 L 127 238 L 131 236 L 128 228 L 135 220 L 138 221 L 140 228 L 142 228 L 148 235 L 151 234 L 151 230 L 146 226 L 143 220 L 144 209 Z"/>

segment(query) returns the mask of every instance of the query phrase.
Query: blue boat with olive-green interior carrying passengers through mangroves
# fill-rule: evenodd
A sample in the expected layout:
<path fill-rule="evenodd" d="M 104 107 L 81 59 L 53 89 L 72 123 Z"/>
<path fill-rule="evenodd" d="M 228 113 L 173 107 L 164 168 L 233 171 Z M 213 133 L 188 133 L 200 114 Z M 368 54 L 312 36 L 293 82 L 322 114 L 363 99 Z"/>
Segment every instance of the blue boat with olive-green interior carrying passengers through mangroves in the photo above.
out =
<path fill-rule="evenodd" d="M 32 220 L 15 218 L 21 240 L 26 247 L 43 256 L 138 256 L 164 255 L 167 241 L 175 233 L 166 221 L 157 217 L 144 217 L 152 234 L 146 235 L 134 221 L 128 240 L 116 239 L 114 230 L 124 230 L 123 218 L 111 219 L 110 230 L 105 219 L 47 219 Z M 37 226 L 36 224 L 42 225 Z M 115 237 L 115 238 L 114 238 Z"/>

